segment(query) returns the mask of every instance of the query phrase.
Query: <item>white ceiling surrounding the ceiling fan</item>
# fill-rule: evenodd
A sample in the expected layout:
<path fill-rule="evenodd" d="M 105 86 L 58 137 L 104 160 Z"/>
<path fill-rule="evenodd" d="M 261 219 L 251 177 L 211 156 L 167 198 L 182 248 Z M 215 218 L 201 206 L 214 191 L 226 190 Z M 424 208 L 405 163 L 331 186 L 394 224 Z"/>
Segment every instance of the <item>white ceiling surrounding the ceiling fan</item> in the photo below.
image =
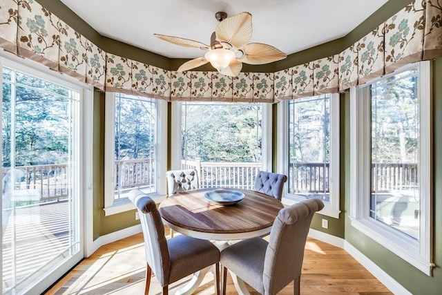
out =
<path fill-rule="evenodd" d="M 252 15 L 251 42 L 287 54 L 343 37 L 387 0 L 61 0 L 101 35 L 166 57 L 195 58 L 198 49 L 169 44 L 153 33 L 210 45 L 215 12 Z"/>

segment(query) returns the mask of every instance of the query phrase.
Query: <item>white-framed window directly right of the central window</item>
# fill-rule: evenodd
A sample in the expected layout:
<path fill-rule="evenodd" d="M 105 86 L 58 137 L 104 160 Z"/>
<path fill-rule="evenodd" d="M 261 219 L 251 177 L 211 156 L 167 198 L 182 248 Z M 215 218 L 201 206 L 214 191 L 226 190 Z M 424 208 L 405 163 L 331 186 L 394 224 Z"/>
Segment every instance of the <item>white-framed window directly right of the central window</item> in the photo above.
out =
<path fill-rule="evenodd" d="M 279 108 L 280 134 L 287 134 L 278 137 L 280 166 L 288 178 L 283 202 L 320 198 L 326 206 L 321 213 L 338 218 L 338 95 L 294 99 Z"/>

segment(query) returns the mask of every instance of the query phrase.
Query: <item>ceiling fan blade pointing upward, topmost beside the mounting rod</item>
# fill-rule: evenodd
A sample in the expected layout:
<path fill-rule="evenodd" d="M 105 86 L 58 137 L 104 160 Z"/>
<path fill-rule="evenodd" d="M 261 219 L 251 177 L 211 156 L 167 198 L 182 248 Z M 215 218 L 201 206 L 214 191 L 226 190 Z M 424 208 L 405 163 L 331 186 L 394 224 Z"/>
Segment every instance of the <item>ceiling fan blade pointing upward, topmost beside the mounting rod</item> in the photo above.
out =
<path fill-rule="evenodd" d="M 241 12 L 233 17 L 227 17 L 215 28 L 218 41 L 227 41 L 236 48 L 242 48 L 249 43 L 251 33 L 251 14 L 249 12 Z"/>

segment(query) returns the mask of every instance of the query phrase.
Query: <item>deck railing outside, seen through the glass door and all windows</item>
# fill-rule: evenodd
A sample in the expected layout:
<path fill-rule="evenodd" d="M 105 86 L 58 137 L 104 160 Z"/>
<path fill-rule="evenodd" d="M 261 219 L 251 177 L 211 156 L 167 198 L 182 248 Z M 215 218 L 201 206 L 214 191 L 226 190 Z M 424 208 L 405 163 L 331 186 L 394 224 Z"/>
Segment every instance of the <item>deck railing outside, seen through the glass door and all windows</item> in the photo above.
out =
<path fill-rule="evenodd" d="M 153 159 L 124 160 L 115 162 L 119 169 L 120 189 L 151 186 L 154 184 Z M 232 187 L 253 189 L 256 173 L 261 163 L 250 162 L 201 162 L 182 160 L 182 169 L 196 169 L 200 187 Z M 417 164 L 373 164 L 372 175 L 376 172 L 376 187 L 372 191 L 412 189 L 419 186 Z M 12 174 L 15 180 L 12 180 Z M 296 163 L 289 166 L 290 193 L 329 193 L 329 163 Z M 68 164 L 48 164 L 16 167 L 15 173 L 9 168 L 2 169 L 3 193 L 8 185 L 15 189 L 28 190 L 39 194 L 41 200 L 61 200 L 68 196 Z M 368 181 L 368 180 L 367 180 Z M 117 189 L 117 187 L 115 188 Z"/>

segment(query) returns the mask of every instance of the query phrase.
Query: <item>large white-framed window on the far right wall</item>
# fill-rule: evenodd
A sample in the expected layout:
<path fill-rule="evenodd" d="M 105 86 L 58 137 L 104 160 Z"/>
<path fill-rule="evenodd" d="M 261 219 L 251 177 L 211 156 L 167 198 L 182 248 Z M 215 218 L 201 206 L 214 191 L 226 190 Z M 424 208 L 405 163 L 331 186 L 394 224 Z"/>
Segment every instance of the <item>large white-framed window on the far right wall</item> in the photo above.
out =
<path fill-rule="evenodd" d="M 352 225 L 431 274 L 430 65 L 352 89 Z"/>

